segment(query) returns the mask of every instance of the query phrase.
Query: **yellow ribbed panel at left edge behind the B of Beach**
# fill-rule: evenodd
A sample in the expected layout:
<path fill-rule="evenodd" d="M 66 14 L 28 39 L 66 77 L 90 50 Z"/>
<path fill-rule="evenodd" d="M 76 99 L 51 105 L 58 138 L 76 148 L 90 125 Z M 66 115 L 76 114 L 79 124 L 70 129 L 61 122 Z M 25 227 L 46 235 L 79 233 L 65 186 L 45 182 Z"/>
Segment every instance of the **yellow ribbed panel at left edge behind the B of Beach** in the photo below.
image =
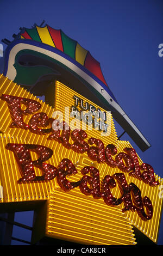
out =
<path fill-rule="evenodd" d="M 1 202 L 10 203 L 48 199 L 52 181 L 18 182 L 22 176 L 14 153 L 5 148 L 7 143 L 27 144 L 27 142 L 5 133 L 1 133 L 0 142 L 0 180 L 3 187 L 3 200 Z M 34 154 L 32 154 L 32 157 L 34 157 Z M 35 156 L 35 159 L 37 158 L 38 156 Z M 41 172 L 40 175 L 42 175 Z"/>

